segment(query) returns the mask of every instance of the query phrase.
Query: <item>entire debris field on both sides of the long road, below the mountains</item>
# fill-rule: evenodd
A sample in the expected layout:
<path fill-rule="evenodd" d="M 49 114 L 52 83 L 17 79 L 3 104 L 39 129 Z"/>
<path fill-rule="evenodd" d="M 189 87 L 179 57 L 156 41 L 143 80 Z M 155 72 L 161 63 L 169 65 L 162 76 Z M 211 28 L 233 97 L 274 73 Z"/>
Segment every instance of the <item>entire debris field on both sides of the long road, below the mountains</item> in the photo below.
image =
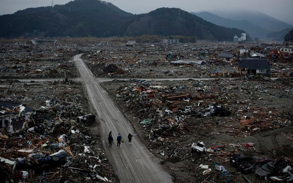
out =
<path fill-rule="evenodd" d="M 174 183 L 293 182 L 293 54 L 281 47 L 2 41 L 0 177 L 120 182 L 106 139 L 91 130 L 100 122 L 72 61 L 83 53 L 95 77 L 112 80 L 100 84 Z M 267 60 L 270 76 L 239 67 L 253 54 Z"/>

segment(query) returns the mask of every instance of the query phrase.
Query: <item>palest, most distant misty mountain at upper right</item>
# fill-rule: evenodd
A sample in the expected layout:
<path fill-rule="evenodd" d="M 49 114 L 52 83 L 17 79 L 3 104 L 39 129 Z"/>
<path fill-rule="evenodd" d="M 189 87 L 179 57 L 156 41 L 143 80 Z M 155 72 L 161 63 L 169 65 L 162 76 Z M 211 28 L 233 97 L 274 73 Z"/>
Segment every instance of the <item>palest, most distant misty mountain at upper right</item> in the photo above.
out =
<path fill-rule="evenodd" d="M 248 20 L 249 22 L 270 31 L 281 31 L 285 28 L 293 27 L 292 25 L 275 19 L 265 13 L 252 10 L 212 10 L 210 13 L 226 19 Z"/>

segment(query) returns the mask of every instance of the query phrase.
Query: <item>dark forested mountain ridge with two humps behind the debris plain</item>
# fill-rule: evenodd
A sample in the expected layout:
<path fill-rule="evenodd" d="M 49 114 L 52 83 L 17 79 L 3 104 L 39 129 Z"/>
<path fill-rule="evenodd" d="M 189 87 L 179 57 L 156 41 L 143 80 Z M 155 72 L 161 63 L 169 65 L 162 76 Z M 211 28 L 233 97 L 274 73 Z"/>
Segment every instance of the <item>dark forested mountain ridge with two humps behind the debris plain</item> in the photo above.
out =
<path fill-rule="evenodd" d="M 0 16 L 0 37 L 83 37 L 186 35 L 202 40 L 233 40 L 244 31 L 207 22 L 178 8 L 133 15 L 109 2 L 76 0 L 65 5 L 20 10 Z"/>

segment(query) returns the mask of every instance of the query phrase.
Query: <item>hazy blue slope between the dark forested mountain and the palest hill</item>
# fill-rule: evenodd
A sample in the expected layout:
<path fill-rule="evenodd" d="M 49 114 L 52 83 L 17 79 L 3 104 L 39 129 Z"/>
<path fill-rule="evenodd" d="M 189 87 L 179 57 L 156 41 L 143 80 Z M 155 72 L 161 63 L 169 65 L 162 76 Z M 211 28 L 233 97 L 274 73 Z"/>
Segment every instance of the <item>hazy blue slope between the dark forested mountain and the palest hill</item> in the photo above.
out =
<path fill-rule="evenodd" d="M 266 30 L 262 27 L 254 25 L 253 23 L 249 22 L 248 20 L 232 20 L 232 19 L 225 19 L 223 17 L 219 17 L 207 11 L 203 11 L 200 13 L 191 12 L 191 14 L 197 15 L 202 19 L 214 23 L 219 26 L 223 27 L 230 27 L 230 28 L 237 28 L 246 31 L 249 35 L 253 38 L 265 38 L 268 33 L 271 31 Z"/>

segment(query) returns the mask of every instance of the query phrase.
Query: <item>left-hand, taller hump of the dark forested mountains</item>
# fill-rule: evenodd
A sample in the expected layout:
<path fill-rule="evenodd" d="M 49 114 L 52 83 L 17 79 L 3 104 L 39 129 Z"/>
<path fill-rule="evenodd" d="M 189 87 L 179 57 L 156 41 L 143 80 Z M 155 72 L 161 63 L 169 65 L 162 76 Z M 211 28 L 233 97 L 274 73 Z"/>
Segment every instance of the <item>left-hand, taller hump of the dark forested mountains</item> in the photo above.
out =
<path fill-rule="evenodd" d="M 123 35 L 121 24 L 131 19 L 111 3 L 98 0 L 71 1 L 53 8 L 39 7 L 0 16 L 0 37 L 17 37 L 28 33 L 44 36 Z"/>

